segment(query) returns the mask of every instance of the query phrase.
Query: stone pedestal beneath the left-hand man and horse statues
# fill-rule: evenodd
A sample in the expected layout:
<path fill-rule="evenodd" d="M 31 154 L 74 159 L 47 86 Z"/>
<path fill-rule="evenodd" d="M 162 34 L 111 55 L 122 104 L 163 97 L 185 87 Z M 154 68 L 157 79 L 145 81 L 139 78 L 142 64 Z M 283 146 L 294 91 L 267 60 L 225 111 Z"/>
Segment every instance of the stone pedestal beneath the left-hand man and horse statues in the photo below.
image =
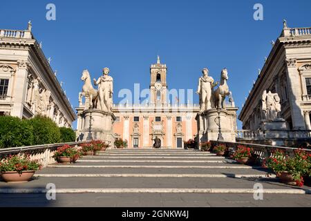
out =
<path fill-rule="evenodd" d="M 113 136 L 113 122 L 115 115 L 113 113 L 100 111 L 98 109 L 83 111 L 82 127 L 77 131 L 79 141 L 86 141 L 89 137 L 89 128 L 91 120 L 91 134 L 93 140 L 102 140 L 109 143 L 109 148 L 114 147 L 115 137 Z"/>

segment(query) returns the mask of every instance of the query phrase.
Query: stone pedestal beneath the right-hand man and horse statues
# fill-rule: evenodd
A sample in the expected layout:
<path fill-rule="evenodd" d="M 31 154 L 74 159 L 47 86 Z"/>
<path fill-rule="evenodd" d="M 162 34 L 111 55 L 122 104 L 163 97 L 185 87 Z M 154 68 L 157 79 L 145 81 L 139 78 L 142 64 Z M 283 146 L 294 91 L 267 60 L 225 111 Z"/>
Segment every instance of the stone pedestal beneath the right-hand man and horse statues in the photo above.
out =
<path fill-rule="evenodd" d="M 221 133 L 226 142 L 236 142 L 236 111 L 238 108 L 231 109 L 221 109 L 219 113 Z M 198 124 L 198 145 L 200 142 L 218 140 L 219 127 L 216 108 L 198 113 L 196 121 Z"/>

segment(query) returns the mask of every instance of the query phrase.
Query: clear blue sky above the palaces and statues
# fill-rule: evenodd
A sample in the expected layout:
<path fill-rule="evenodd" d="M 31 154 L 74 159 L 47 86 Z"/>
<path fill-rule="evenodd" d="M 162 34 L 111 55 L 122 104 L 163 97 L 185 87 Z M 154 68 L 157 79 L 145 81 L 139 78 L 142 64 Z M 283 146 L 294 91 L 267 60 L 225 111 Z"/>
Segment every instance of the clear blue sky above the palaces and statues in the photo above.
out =
<path fill-rule="evenodd" d="M 56 21 L 46 20 L 48 3 L 55 3 Z M 255 3 L 263 4 L 263 21 L 253 19 Z M 169 88 L 195 90 L 202 68 L 218 79 L 226 67 L 241 110 L 283 19 L 290 27 L 310 27 L 310 8 L 309 0 L 15 0 L 1 2 L 0 28 L 23 30 L 32 21 L 32 32 L 43 42 L 46 57 L 52 57 L 74 107 L 84 68 L 96 78 L 103 67 L 111 69 L 117 103 L 120 89 L 149 86 L 149 67 L 160 55 L 169 68 Z"/>

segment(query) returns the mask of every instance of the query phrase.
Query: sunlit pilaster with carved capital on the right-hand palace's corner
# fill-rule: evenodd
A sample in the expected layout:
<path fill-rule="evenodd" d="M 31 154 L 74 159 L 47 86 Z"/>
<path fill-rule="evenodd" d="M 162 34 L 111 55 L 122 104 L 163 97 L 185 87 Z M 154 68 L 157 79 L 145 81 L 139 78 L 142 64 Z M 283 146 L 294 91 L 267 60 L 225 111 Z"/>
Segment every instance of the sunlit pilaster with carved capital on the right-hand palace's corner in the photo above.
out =
<path fill-rule="evenodd" d="M 301 102 L 301 82 L 296 67 L 296 59 L 286 59 L 287 64 L 287 77 L 289 99 L 290 99 L 290 111 L 292 115 L 292 126 L 294 130 L 301 130 L 305 128 L 305 120 L 303 119 L 303 113 L 301 113 L 301 108 L 299 102 Z"/>

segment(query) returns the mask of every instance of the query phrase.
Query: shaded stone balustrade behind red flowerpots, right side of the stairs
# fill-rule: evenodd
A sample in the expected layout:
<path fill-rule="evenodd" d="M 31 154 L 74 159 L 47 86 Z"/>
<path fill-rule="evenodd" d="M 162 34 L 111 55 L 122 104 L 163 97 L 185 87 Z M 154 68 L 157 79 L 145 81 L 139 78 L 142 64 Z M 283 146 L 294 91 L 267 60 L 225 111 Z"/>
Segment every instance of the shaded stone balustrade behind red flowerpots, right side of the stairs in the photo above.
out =
<path fill-rule="evenodd" d="M 263 161 L 267 157 L 273 157 L 274 151 L 280 150 L 285 153 L 285 155 L 293 156 L 294 151 L 297 151 L 298 148 L 290 148 L 290 147 L 284 147 L 284 146 L 270 146 L 270 145 L 263 145 L 263 144 L 247 144 L 247 143 L 241 143 L 241 142 L 220 142 L 220 141 L 214 141 L 211 140 L 211 146 L 214 147 L 218 144 L 225 144 L 228 148 L 231 148 L 232 151 L 235 151 L 236 148 L 238 148 L 239 145 L 247 146 L 249 148 L 252 148 L 253 154 L 258 157 L 258 160 Z M 311 149 L 305 149 L 308 153 L 311 153 Z"/>

